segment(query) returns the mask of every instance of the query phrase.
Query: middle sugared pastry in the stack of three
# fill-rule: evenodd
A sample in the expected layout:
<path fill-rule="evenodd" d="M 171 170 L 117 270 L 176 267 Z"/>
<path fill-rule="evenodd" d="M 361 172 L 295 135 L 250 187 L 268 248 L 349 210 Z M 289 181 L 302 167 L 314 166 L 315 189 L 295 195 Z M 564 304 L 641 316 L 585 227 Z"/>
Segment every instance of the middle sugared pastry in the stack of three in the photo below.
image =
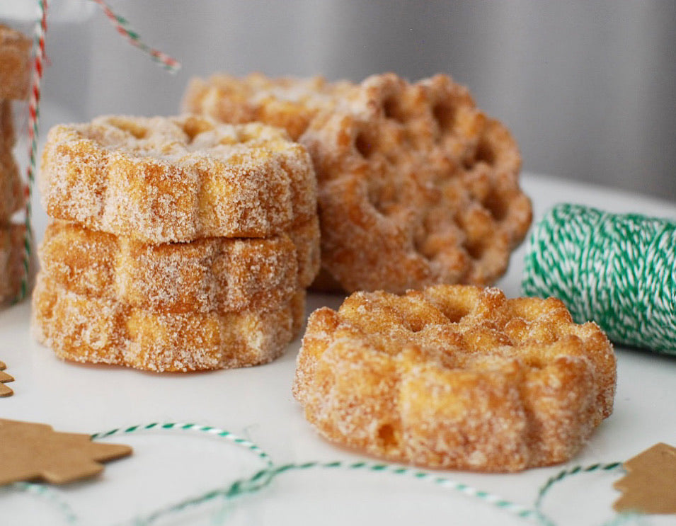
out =
<path fill-rule="evenodd" d="M 42 272 L 71 292 L 166 312 L 268 311 L 306 288 L 319 266 L 316 222 L 265 239 L 144 244 L 55 221 Z"/>

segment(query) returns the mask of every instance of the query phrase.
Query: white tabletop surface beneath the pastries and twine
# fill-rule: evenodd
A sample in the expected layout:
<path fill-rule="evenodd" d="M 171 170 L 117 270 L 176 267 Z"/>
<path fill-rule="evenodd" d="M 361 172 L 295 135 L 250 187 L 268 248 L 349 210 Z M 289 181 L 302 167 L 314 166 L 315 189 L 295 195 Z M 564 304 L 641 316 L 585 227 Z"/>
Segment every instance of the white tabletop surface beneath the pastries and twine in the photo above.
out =
<path fill-rule="evenodd" d="M 676 204 L 616 190 L 525 174 L 535 220 L 556 202 L 581 202 L 614 212 L 676 218 Z M 38 231 L 41 231 L 38 225 Z M 498 286 L 520 293 L 525 244 L 512 256 Z M 338 307 L 340 298 L 311 295 L 308 312 Z M 152 422 L 190 422 L 229 430 L 255 442 L 273 462 L 350 462 L 365 457 L 319 438 L 291 395 L 299 340 L 269 365 L 188 375 L 156 375 L 120 367 L 62 362 L 33 341 L 30 304 L 0 311 L 0 360 L 15 381 L 15 394 L 0 399 L 0 417 L 49 423 L 56 430 L 96 433 Z M 569 464 L 520 474 L 437 471 L 479 490 L 532 507 L 537 491 L 561 469 L 576 464 L 629 459 L 655 442 L 676 445 L 676 358 L 616 346 L 618 384 L 614 413 Z M 68 524 L 65 503 L 84 525 L 131 520 L 184 498 L 224 488 L 263 464 L 251 452 L 200 433 L 137 433 L 108 442 L 134 447 L 126 459 L 106 464 L 95 479 L 52 486 L 56 500 L 0 489 L 0 524 Z M 1 462 L 1 458 L 0 458 Z M 561 525 L 600 524 L 614 517 L 618 472 L 578 475 L 552 488 L 543 510 Z M 283 474 L 259 493 L 223 506 L 213 502 L 158 524 L 345 525 L 534 523 L 476 498 L 406 476 L 347 469 L 310 469 Z M 651 516 L 647 524 L 676 524 L 674 516 Z"/>

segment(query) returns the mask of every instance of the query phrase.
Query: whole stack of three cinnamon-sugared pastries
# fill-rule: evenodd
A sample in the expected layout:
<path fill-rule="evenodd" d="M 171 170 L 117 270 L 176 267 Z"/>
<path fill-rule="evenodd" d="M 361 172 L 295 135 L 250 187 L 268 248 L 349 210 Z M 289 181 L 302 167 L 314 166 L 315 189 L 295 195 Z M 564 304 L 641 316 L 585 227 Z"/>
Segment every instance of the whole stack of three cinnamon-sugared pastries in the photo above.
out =
<path fill-rule="evenodd" d="M 189 371 L 277 358 L 319 270 L 316 180 L 284 130 L 101 117 L 47 137 L 38 340 L 69 360 Z"/>

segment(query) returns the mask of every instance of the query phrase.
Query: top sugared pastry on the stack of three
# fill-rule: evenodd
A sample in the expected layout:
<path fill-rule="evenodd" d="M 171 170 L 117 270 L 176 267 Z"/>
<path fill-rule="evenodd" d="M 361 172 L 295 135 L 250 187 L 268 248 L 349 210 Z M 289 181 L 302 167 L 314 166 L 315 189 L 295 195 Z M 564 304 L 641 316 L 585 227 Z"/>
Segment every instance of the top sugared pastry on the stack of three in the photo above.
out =
<path fill-rule="evenodd" d="M 195 115 L 57 125 L 39 183 L 50 217 L 154 244 L 267 237 L 316 216 L 304 147 L 273 127 Z"/>

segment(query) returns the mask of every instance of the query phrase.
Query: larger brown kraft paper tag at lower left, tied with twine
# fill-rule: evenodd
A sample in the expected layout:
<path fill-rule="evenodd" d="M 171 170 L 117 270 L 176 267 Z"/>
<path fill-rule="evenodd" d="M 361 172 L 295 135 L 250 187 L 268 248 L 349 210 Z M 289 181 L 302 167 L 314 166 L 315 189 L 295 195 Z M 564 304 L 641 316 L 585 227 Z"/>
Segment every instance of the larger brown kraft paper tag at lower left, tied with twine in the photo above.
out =
<path fill-rule="evenodd" d="M 64 484 L 98 474 L 99 462 L 125 457 L 126 445 L 92 442 L 89 435 L 59 433 L 50 425 L 0 418 L 0 485 L 43 479 Z"/>

